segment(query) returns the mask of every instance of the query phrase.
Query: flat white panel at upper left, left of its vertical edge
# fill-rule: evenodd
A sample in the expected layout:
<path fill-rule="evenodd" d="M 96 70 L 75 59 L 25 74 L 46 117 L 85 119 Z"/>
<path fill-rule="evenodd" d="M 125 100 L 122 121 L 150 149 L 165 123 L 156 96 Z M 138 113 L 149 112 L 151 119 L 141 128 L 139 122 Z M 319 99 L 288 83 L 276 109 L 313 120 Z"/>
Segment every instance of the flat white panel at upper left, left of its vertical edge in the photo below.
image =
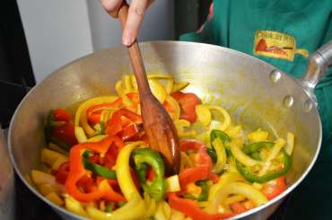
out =
<path fill-rule="evenodd" d="M 85 0 L 17 0 L 37 82 L 59 66 L 91 53 Z"/>

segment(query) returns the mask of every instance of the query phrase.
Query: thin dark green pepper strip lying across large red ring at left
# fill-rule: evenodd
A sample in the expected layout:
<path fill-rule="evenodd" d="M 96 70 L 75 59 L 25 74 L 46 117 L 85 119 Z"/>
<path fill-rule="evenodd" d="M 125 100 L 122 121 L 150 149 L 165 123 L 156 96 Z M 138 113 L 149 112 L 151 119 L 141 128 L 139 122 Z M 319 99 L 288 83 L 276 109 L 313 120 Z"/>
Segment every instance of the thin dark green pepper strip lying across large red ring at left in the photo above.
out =
<path fill-rule="evenodd" d="M 83 153 L 83 166 L 86 170 L 89 170 L 99 176 L 105 177 L 106 179 L 116 180 L 117 175 L 115 171 L 109 170 L 99 164 L 91 163 L 88 161 L 88 158 L 92 156 L 92 152 L 84 151 Z"/>

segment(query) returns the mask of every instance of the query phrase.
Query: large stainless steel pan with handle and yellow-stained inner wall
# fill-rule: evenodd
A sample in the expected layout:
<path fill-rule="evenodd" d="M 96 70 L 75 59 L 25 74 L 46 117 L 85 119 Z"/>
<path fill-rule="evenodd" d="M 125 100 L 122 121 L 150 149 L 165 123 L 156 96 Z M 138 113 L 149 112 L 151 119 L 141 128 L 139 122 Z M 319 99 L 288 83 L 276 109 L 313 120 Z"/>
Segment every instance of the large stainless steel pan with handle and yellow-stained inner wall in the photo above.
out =
<path fill-rule="evenodd" d="M 235 218 L 266 219 L 315 163 L 322 137 L 319 112 L 312 91 L 331 65 L 330 44 L 310 58 L 309 71 L 295 80 L 274 66 L 238 51 L 207 44 L 156 41 L 141 44 L 148 73 L 168 73 L 191 84 L 203 101 L 223 105 L 232 119 L 247 128 L 266 128 L 275 136 L 296 137 L 289 188 L 277 198 Z M 65 218 L 78 219 L 44 198 L 26 179 L 39 166 L 45 146 L 43 122 L 48 110 L 114 91 L 121 75 L 132 73 L 127 48 L 109 48 L 58 69 L 35 86 L 15 111 L 9 130 L 13 166 L 26 186 Z"/>

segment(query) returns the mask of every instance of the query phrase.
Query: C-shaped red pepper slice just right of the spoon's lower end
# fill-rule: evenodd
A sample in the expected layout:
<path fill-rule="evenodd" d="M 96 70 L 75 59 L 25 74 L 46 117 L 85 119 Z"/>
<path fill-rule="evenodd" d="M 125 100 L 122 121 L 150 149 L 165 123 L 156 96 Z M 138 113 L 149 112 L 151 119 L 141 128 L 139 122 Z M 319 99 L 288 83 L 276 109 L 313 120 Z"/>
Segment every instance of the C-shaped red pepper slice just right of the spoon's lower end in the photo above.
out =
<path fill-rule="evenodd" d="M 196 167 L 185 169 L 179 173 L 181 189 L 186 189 L 188 183 L 208 179 L 212 172 L 212 160 L 206 152 L 206 146 L 196 140 L 182 140 L 179 145 L 181 151 L 195 150 L 199 155 Z"/>

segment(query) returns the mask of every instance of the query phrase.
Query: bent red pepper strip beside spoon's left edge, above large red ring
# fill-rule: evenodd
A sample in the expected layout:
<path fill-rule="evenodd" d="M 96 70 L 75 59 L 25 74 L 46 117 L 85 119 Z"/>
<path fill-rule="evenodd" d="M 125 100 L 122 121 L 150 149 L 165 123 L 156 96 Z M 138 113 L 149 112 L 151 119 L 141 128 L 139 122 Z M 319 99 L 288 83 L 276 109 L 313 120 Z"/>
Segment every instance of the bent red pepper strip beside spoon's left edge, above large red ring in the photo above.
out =
<path fill-rule="evenodd" d="M 117 110 L 113 113 L 112 118 L 110 118 L 107 122 L 106 134 L 114 136 L 122 130 L 124 121 L 122 117 L 129 119 L 135 124 L 142 123 L 142 117 L 135 112 L 127 109 Z"/>

